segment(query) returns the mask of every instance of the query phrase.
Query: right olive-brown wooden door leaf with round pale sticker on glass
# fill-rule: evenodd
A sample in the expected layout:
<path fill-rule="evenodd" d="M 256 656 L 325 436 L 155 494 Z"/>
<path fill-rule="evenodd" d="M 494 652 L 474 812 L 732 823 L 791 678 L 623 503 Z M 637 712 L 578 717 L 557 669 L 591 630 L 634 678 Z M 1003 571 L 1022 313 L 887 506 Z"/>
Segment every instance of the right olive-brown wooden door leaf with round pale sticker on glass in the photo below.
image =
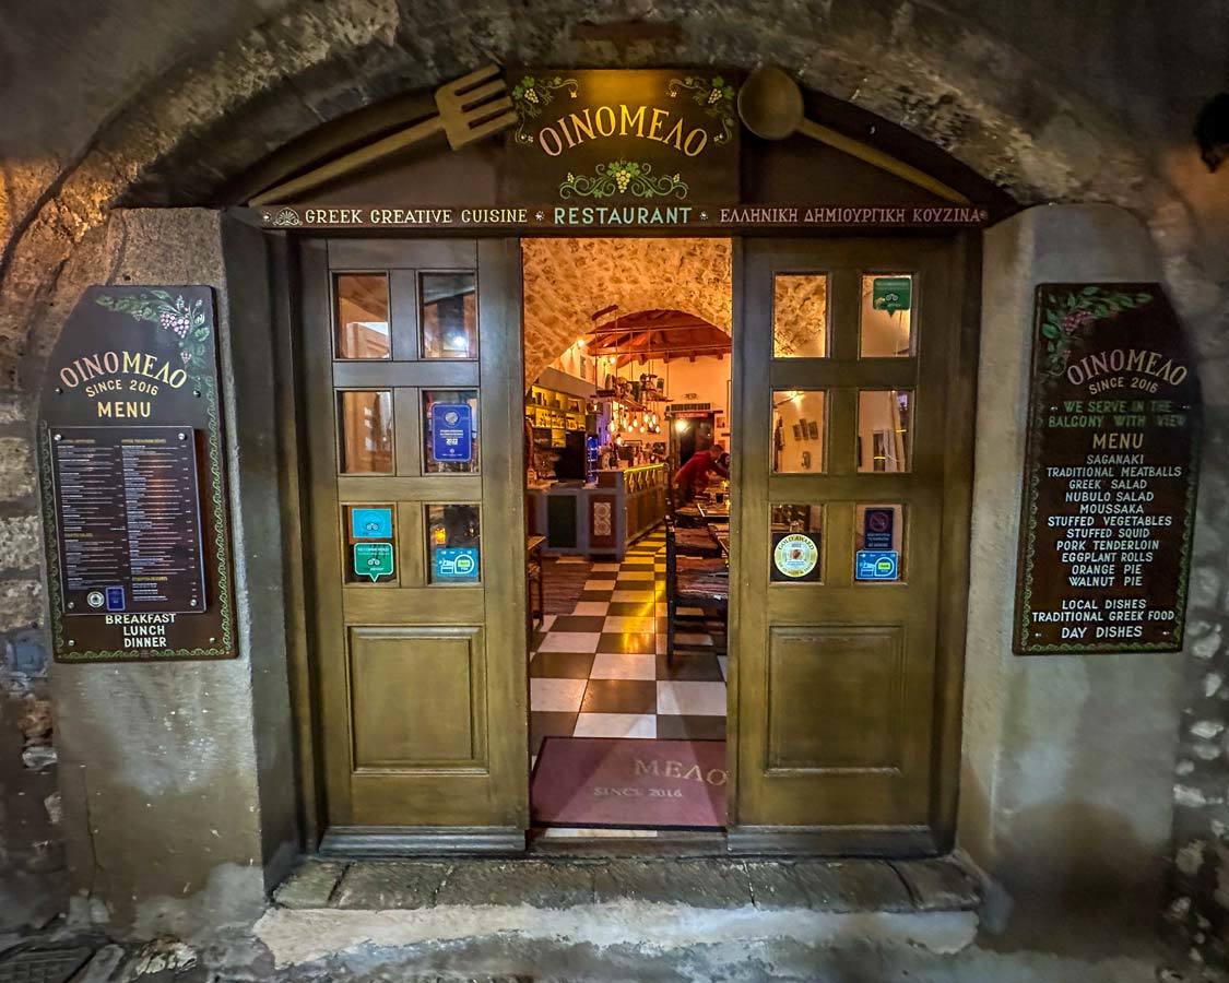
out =
<path fill-rule="evenodd" d="M 933 850 L 943 578 L 964 590 L 941 549 L 949 437 L 965 433 L 946 419 L 961 253 L 746 240 L 741 254 L 731 848 Z M 819 541 L 817 575 L 772 573 L 795 532 Z"/>

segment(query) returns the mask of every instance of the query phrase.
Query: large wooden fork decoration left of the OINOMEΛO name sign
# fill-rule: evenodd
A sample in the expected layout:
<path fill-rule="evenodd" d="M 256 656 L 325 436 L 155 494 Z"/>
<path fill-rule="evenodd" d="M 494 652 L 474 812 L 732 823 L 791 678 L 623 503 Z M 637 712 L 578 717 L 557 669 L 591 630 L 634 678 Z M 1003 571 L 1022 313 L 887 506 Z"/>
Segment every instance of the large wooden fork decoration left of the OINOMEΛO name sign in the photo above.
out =
<path fill-rule="evenodd" d="M 365 167 L 407 146 L 422 143 L 441 130 L 447 138 L 449 145 L 454 150 L 458 150 L 474 140 L 482 140 L 484 136 L 506 129 L 516 122 L 516 111 L 512 109 L 512 101 L 508 97 L 508 86 L 498 76 L 499 66 L 487 65 L 454 82 L 441 85 L 435 90 L 436 116 L 261 192 L 248 204 L 264 205 L 270 202 L 293 202 L 304 192 L 318 188 L 326 182 L 359 167 Z M 489 79 L 494 81 L 488 81 Z"/>

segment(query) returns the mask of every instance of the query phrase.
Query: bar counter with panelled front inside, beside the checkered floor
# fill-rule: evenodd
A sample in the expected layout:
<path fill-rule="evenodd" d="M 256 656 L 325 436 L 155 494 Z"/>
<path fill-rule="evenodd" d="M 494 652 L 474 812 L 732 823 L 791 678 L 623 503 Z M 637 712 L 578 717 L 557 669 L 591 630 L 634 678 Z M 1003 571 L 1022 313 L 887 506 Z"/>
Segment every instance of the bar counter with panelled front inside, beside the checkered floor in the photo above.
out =
<path fill-rule="evenodd" d="M 552 553 L 621 560 L 666 515 L 666 466 L 599 471 L 592 484 L 535 485 L 528 507 L 531 535 L 546 536 Z"/>

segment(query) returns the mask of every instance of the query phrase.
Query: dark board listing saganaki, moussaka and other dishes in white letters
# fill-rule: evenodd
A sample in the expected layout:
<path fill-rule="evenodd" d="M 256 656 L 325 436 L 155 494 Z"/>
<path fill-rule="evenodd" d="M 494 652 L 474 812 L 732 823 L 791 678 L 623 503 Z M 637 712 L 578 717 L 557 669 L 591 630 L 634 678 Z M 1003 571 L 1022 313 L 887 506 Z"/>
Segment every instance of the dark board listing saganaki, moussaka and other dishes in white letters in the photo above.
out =
<path fill-rule="evenodd" d="M 1160 284 L 1037 288 L 1016 652 L 1182 648 L 1198 433 Z"/>

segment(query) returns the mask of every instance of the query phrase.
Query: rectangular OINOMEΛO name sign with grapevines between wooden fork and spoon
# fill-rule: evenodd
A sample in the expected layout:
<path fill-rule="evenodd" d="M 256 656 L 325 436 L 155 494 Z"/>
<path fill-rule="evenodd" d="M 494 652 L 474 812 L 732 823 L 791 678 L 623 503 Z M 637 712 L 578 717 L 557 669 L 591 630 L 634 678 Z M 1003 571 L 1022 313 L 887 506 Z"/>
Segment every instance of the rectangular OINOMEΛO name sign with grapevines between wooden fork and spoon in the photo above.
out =
<path fill-rule="evenodd" d="M 739 200 L 737 85 L 704 70 L 509 72 L 503 200 Z"/>

